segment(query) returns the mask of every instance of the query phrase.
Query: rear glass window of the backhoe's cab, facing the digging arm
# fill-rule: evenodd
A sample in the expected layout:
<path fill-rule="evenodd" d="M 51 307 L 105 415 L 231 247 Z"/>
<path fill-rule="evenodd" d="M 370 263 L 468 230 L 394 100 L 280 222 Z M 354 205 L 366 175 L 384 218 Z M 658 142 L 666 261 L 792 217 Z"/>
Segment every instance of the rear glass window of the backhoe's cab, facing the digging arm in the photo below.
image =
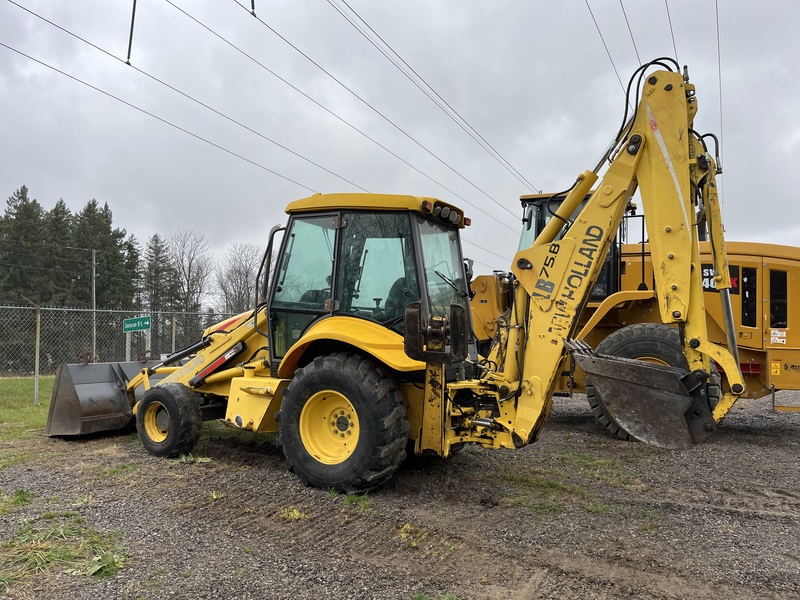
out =
<path fill-rule="evenodd" d="M 417 221 L 431 314 L 449 317 L 451 304 L 469 310 L 457 230 L 422 218 Z"/>

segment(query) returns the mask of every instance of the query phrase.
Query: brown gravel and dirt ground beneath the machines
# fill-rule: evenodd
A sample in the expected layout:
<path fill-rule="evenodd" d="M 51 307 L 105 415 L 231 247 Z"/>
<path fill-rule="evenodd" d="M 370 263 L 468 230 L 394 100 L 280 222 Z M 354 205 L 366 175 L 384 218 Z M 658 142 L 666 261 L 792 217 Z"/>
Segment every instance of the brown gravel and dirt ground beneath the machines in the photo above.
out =
<path fill-rule="evenodd" d="M 408 460 L 365 497 L 305 488 L 274 439 L 209 425 L 194 463 L 131 433 L 0 448 L 0 489 L 32 493 L 0 515 L 0 542 L 73 511 L 121 532 L 127 557 L 110 578 L 51 569 L 6 594 L 800 598 L 800 413 L 768 398 L 690 451 L 614 440 L 583 397 L 557 399 L 536 444 Z"/>

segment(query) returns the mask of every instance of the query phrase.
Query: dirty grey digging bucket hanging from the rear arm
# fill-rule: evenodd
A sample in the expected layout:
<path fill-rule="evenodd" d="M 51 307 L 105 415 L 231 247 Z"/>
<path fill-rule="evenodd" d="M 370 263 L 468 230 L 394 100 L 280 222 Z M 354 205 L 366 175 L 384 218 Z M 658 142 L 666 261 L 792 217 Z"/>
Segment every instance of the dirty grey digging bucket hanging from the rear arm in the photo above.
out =
<path fill-rule="evenodd" d="M 705 371 L 595 354 L 584 342 L 567 342 L 566 347 L 591 377 L 609 414 L 637 440 L 687 449 L 716 430 Z"/>

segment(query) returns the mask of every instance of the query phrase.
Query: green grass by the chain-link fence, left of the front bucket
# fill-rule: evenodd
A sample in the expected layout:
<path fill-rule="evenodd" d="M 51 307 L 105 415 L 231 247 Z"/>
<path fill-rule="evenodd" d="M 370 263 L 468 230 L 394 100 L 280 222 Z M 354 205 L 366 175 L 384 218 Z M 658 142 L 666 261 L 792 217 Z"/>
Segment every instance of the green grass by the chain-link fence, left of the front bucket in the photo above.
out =
<path fill-rule="evenodd" d="M 0 442 L 32 435 L 47 425 L 55 377 L 39 378 L 39 405 L 34 405 L 33 377 L 0 377 Z"/>

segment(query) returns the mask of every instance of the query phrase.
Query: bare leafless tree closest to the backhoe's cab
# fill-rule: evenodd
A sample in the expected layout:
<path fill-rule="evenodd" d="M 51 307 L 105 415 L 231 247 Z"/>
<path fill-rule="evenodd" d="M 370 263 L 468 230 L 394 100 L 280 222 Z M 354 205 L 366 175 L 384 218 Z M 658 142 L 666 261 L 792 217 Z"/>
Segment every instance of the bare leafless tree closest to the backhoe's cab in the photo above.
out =
<path fill-rule="evenodd" d="M 253 308 L 260 261 L 261 249 L 255 244 L 231 244 L 216 270 L 220 312 L 240 313 Z"/>

